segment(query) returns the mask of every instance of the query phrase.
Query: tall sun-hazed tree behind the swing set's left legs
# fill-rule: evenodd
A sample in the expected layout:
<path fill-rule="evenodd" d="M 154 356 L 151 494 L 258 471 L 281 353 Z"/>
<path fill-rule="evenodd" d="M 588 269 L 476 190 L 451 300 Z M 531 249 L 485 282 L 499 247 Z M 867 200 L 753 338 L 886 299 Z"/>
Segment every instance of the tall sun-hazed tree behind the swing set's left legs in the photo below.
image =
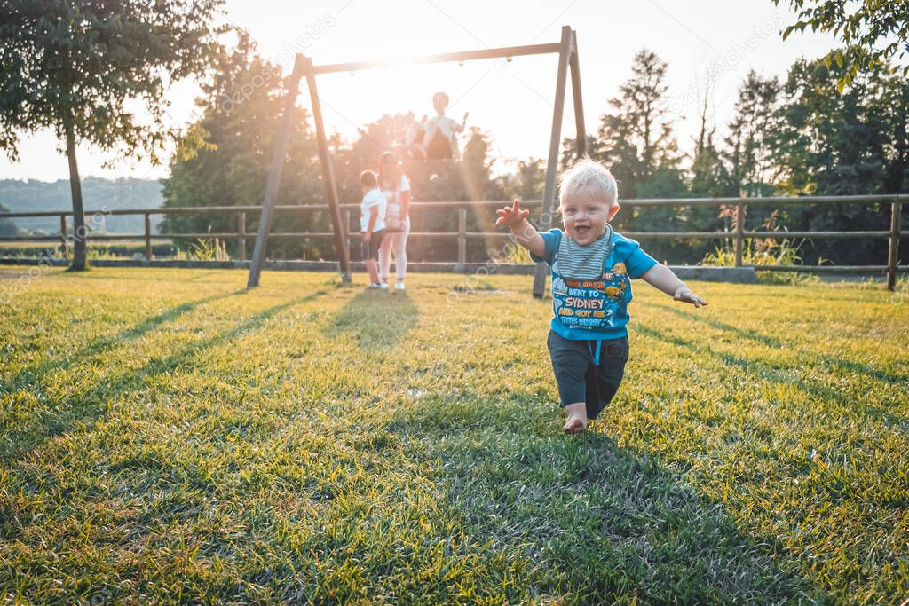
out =
<path fill-rule="evenodd" d="M 285 78 L 280 66 L 257 54 L 244 31 L 237 32 L 234 47 L 215 54 L 213 65 L 196 100 L 202 116 L 186 129 L 171 161 L 170 177 L 163 180 L 165 207 L 261 204 L 285 104 Z M 325 192 L 319 182 L 315 137 L 306 124 L 306 111 L 299 107 L 294 111 L 277 204 L 314 204 Z M 247 214 L 247 219 L 246 231 L 255 233 L 258 215 Z M 234 232 L 235 221 L 235 214 L 169 214 L 161 229 L 163 233 Z M 275 224 L 285 232 L 306 231 L 315 224 L 327 231 L 327 213 L 281 213 Z M 269 251 L 318 258 L 327 252 L 327 243 L 316 242 L 304 250 L 301 241 L 272 238 Z M 233 241 L 225 247 L 235 253 Z"/>

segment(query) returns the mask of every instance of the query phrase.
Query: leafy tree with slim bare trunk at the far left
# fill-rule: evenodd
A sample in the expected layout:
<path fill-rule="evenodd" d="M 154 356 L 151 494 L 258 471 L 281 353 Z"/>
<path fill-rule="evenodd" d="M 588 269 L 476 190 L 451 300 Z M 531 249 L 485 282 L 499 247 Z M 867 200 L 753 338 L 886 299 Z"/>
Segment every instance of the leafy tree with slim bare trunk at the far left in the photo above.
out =
<path fill-rule="evenodd" d="M 205 71 L 221 29 L 222 0 L 58 2 L 0 5 L 0 147 L 15 160 L 22 132 L 53 128 L 65 142 L 73 199 L 72 269 L 85 269 L 87 235 L 75 146 L 157 163 L 169 139 L 168 85 Z M 134 114 L 126 102 L 142 107 Z M 133 107 L 135 107 L 135 104 Z"/>

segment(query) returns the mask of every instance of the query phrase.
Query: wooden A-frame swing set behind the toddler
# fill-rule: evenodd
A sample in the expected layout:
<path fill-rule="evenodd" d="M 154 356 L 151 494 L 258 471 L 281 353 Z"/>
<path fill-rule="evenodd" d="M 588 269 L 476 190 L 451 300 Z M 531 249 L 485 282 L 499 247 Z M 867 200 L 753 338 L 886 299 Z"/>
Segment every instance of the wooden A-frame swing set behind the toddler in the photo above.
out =
<path fill-rule="evenodd" d="M 275 140 L 275 154 L 268 174 L 268 181 L 265 184 L 265 199 L 262 203 L 259 230 L 255 238 L 255 250 L 250 264 L 246 288 L 258 286 L 262 275 L 262 266 L 265 263 L 265 247 L 268 243 L 268 234 L 271 231 L 272 219 L 275 214 L 275 201 L 277 200 L 278 187 L 281 181 L 281 171 L 284 167 L 294 107 L 297 95 L 300 92 L 300 81 L 303 78 L 306 79 L 306 87 L 309 89 L 309 98 L 313 108 L 313 121 L 315 122 L 315 136 L 318 144 L 319 163 L 322 164 L 325 198 L 328 201 L 332 230 L 335 234 L 335 252 L 337 253 L 338 263 L 341 268 L 341 283 L 350 284 L 350 250 L 347 247 L 347 226 L 342 221 L 341 212 L 338 209 L 337 182 L 335 180 L 335 171 L 331 154 L 328 149 L 328 140 L 325 135 L 325 124 L 322 119 L 322 105 L 319 103 L 315 76 L 338 72 L 353 73 L 359 70 L 394 67 L 399 65 L 423 65 L 449 62 L 462 63 L 464 61 L 496 58 L 507 58 L 511 60 L 516 56 L 547 55 L 554 53 L 559 55 L 559 63 L 555 75 L 553 124 L 549 137 L 549 156 L 546 162 L 543 210 L 539 222 L 540 228 L 545 231 L 549 229 L 552 224 L 552 209 L 555 202 L 555 176 L 559 163 L 559 143 L 562 136 L 565 90 L 567 87 L 569 71 L 571 72 L 572 96 L 574 98 L 574 122 L 577 125 L 577 139 L 575 143 L 576 153 L 578 157 L 586 154 L 586 131 L 584 129 L 584 105 L 582 104 L 581 98 L 581 70 L 577 53 L 577 33 L 570 25 L 562 26 L 562 38 L 559 42 L 553 44 L 487 48 L 459 53 L 428 55 L 393 62 L 361 61 L 354 63 L 313 65 L 313 60 L 311 58 L 302 54 L 297 54 L 294 61 L 294 71 L 290 75 L 287 94 L 285 95 L 284 114 L 282 115 L 281 124 L 279 125 L 277 138 Z M 534 271 L 534 297 L 543 296 L 545 283 L 545 263 L 537 263 Z"/>

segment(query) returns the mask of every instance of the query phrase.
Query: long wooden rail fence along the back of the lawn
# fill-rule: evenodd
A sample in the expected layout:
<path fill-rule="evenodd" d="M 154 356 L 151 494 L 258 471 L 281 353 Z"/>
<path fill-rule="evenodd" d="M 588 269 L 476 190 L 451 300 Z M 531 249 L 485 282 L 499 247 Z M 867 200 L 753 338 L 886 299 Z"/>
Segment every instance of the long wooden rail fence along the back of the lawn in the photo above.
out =
<path fill-rule="evenodd" d="M 885 265 L 759 265 L 754 269 L 766 271 L 797 271 L 797 272 L 817 272 L 817 273 L 876 273 L 884 271 L 887 275 L 887 286 L 893 288 L 895 275 L 897 272 L 904 272 L 909 269 L 907 266 L 899 265 L 899 243 L 903 237 L 901 214 L 903 204 L 909 203 L 909 194 L 881 194 L 881 195 L 844 195 L 844 196 L 785 196 L 785 197 L 767 197 L 767 198 L 654 198 L 654 199 L 637 199 L 623 200 L 621 204 L 624 207 L 678 207 L 678 206 L 728 206 L 733 207 L 736 217 L 745 216 L 745 206 L 784 206 L 784 205 L 819 205 L 819 204 L 891 204 L 891 221 L 889 230 L 864 230 L 864 231 L 841 231 L 841 232 L 787 232 L 787 231 L 745 231 L 744 220 L 734 222 L 734 230 L 723 232 L 624 232 L 625 235 L 634 238 L 657 238 L 657 239 L 714 239 L 714 240 L 732 240 L 734 247 L 734 265 L 736 267 L 749 267 L 743 263 L 744 243 L 754 238 L 886 238 L 889 241 L 887 260 Z M 470 208 L 477 207 L 501 207 L 504 204 L 510 204 L 503 201 L 481 201 L 481 202 L 415 202 L 411 204 L 414 212 L 431 209 L 454 209 L 458 216 L 458 230 L 456 232 L 416 232 L 411 233 L 413 238 L 454 238 L 457 241 L 457 260 L 455 267 L 464 267 L 466 265 L 467 241 L 474 239 L 487 238 L 507 238 L 508 233 L 498 232 L 468 232 L 467 231 L 467 211 Z M 524 206 L 535 208 L 541 206 L 540 200 L 524 201 Z M 359 210 L 359 204 L 340 204 L 345 219 L 345 233 L 348 244 L 359 233 L 351 233 L 351 219 L 353 214 Z M 85 211 L 85 216 L 117 216 L 117 215 L 142 215 L 145 219 L 144 233 L 90 233 L 89 237 L 96 241 L 115 241 L 115 240 L 142 240 L 145 242 L 145 258 L 152 258 L 152 241 L 153 240 L 171 240 L 174 238 L 205 239 L 219 238 L 222 240 L 235 239 L 237 243 L 237 255 L 241 261 L 246 258 L 246 243 L 250 238 L 255 238 L 255 233 L 247 232 L 246 218 L 247 214 L 258 214 L 261 211 L 260 206 L 194 206 L 182 208 L 155 208 L 155 209 L 125 209 L 125 208 L 108 208 L 101 210 Z M 275 211 L 294 212 L 294 213 L 312 213 L 328 211 L 326 204 L 295 204 L 275 206 Z M 168 214 L 235 214 L 236 231 L 222 233 L 152 233 L 152 215 Z M 24 236 L 0 236 L 2 242 L 60 242 L 64 245 L 64 254 L 66 254 L 66 245 L 72 239 L 68 233 L 67 219 L 73 216 L 73 211 L 41 211 L 26 213 L 0 213 L 0 219 L 19 219 L 35 217 L 59 217 L 60 231 L 55 235 L 24 235 Z M 270 233 L 269 238 L 332 238 L 330 232 L 293 232 L 293 233 Z"/>

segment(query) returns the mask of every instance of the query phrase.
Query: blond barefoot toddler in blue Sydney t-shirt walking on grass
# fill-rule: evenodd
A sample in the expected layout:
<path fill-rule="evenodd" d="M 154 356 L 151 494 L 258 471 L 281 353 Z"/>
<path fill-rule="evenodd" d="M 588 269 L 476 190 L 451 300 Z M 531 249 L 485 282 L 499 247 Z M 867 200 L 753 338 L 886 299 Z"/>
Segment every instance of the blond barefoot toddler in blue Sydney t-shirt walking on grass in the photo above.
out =
<path fill-rule="evenodd" d="M 551 268 L 554 315 L 546 344 L 565 410 L 564 432 L 579 433 L 622 382 L 631 279 L 643 278 L 694 307 L 707 302 L 638 243 L 613 231 L 618 186 L 602 164 L 577 162 L 559 175 L 559 191 L 564 231 L 537 232 L 518 200 L 496 211 L 495 224 L 506 225 L 535 262 Z"/>

